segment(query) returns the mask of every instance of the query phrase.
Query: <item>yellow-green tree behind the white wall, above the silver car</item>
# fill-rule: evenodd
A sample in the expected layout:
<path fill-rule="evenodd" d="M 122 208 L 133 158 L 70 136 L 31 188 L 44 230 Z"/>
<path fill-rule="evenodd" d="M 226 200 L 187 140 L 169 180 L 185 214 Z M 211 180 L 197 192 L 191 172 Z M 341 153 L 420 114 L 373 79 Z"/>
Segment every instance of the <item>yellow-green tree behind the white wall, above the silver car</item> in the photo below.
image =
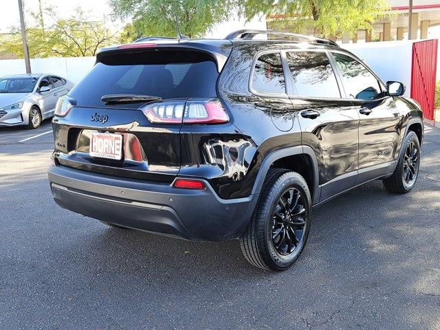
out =
<path fill-rule="evenodd" d="M 51 25 L 45 28 L 43 14 Z M 118 43 L 116 34 L 112 34 L 101 21 L 90 21 L 80 8 L 68 19 L 61 19 L 54 8 L 45 8 L 32 13 L 38 26 L 26 28 L 30 57 L 65 57 L 94 56 L 107 45 Z M 23 57 L 19 28 L 12 28 L 11 33 L 3 38 L 1 52 Z"/>

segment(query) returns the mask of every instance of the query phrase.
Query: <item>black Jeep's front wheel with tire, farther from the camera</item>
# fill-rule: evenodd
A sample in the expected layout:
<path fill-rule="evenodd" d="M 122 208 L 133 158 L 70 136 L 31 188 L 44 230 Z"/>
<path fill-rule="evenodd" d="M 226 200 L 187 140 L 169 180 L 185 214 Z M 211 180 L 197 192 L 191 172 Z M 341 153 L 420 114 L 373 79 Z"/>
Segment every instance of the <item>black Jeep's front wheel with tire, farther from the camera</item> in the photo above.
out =
<path fill-rule="evenodd" d="M 412 190 L 419 175 L 420 143 L 417 134 L 408 131 L 401 147 L 393 175 L 382 180 L 386 190 L 395 194 L 406 194 Z"/>

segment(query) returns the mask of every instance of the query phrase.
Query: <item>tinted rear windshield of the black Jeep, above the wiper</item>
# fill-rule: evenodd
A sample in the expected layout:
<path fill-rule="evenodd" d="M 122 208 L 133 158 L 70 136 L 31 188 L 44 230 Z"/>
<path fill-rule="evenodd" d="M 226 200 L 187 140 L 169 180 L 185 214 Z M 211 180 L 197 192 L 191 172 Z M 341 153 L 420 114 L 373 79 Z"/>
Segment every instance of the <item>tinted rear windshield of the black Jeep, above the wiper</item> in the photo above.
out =
<path fill-rule="evenodd" d="M 110 54 L 99 61 L 71 92 L 78 105 L 102 106 L 101 98 L 107 94 L 144 94 L 164 99 L 217 97 L 217 65 L 205 53 L 162 50 Z"/>

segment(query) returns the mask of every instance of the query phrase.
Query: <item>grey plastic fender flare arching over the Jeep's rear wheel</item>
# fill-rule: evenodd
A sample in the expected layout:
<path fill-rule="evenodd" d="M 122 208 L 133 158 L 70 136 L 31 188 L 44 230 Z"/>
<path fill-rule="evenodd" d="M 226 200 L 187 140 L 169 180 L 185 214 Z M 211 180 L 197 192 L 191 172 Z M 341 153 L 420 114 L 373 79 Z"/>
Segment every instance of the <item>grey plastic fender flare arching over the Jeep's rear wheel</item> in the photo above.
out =
<path fill-rule="evenodd" d="M 261 163 L 259 173 L 256 176 L 254 186 L 252 188 L 252 195 L 259 195 L 261 189 L 263 188 L 263 183 L 265 181 L 265 177 L 267 172 L 270 169 L 270 166 L 276 162 L 276 160 L 294 156 L 294 155 L 307 155 L 311 159 L 313 171 L 314 183 L 311 188 L 311 195 L 313 196 L 312 204 L 318 203 L 320 199 L 320 186 L 319 186 L 319 168 L 318 168 L 318 160 L 316 159 L 316 154 L 310 146 L 291 146 L 287 148 L 282 148 L 276 151 L 272 151 L 269 155 L 267 155 L 263 162 Z"/>

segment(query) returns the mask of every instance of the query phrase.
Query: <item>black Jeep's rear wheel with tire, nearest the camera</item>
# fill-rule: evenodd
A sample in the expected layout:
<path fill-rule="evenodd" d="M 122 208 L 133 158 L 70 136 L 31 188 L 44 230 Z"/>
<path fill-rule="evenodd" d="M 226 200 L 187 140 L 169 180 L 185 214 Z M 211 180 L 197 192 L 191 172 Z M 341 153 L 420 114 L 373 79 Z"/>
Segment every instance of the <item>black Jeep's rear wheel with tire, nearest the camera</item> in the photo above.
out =
<path fill-rule="evenodd" d="M 287 270 L 303 252 L 310 224 L 311 196 L 305 179 L 288 170 L 269 170 L 252 219 L 240 238 L 245 259 L 265 270 Z"/>

